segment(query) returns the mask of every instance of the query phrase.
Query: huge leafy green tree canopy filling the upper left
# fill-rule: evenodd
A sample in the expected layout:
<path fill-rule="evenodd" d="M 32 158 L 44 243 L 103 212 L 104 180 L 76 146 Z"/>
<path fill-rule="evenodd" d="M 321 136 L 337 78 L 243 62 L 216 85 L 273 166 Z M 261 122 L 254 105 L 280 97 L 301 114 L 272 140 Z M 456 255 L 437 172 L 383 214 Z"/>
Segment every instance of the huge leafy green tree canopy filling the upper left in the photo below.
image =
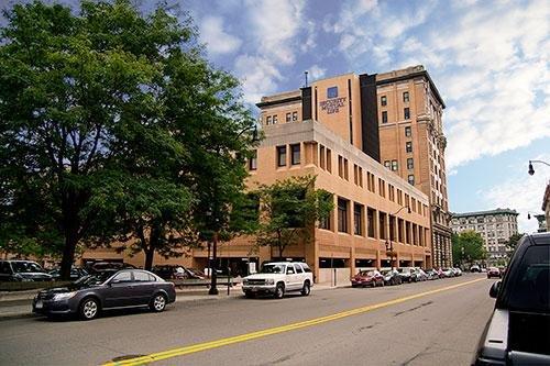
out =
<path fill-rule="evenodd" d="M 206 221 L 207 169 L 244 170 L 254 123 L 189 18 L 127 0 L 80 9 L 16 4 L 0 42 L 0 243 L 59 251 L 66 278 L 80 241 L 131 243 L 147 268 L 155 251 L 180 253 Z M 213 195 L 231 201 L 243 177 Z"/>

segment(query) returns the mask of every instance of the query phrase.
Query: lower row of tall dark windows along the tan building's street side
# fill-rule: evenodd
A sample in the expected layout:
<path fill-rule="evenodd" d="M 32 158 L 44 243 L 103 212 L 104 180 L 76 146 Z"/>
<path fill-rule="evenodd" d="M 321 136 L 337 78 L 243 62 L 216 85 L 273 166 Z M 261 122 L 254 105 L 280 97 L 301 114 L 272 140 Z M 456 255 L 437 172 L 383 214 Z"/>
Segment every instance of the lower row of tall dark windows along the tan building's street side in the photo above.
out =
<path fill-rule="evenodd" d="M 365 221 L 365 206 L 358 202 L 338 197 L 337 204 L 337 230 L 340 233 L 351 234 L 351 207 L 353 206 L 353 234 L 371 239 L 389 240 L 396 243 L 411 244 L 426 246 L 428 229 L 399 219 L 395 215 L 387 214 L 383 211 L 376 211 L 373 208 L 366 207 L 366 221 Z M 331 215 L 321 220 L 319 223 L 320 229 L 333 231 Z"/>

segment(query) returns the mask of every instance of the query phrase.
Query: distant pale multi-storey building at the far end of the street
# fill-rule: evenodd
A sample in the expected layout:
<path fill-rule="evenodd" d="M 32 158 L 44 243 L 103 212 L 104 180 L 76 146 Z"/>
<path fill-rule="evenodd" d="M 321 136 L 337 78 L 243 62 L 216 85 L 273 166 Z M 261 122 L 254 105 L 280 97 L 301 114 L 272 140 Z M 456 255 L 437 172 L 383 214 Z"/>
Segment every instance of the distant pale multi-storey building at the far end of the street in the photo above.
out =
<path fill-rule="evenodd" d="M 496 265 L 507 258 L 506 242 L 518 233 L 517 213 L 510 209 L 453 213 L 452 230 L 461 233 L 473 230 L 483 236 L 487 251 L 487 263 Z"/>

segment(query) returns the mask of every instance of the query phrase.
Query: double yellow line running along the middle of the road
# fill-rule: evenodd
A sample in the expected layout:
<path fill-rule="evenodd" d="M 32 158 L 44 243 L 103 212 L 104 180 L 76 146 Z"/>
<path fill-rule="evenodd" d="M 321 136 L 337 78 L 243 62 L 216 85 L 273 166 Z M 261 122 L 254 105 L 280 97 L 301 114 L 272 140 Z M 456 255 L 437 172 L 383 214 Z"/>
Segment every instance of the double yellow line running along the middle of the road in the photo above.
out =
<path fill-rule="evenodd" d="M 426 292 L 410 295 L 410 296 L 406 296 L 403 298 L 397 298 L 394 300 L 375 303 L 372 306 L 351 309 L 351 310 L 342 311 L 342 312 L 331 314 L 331 315 L 315 318 L 315 319 L 310 319 L 310 320 L 306 320 L 306 321 L 301 321 L 301 322 L 297 322 L 297 323 L 292 323 L 292 324 L 287 324 L 287 325 L 276 326 L 276 328 L 270 328 L 270 329 L 266 329 L 263 331 L 230 336 L 227 339 L 221 339 L 221 340 L 216 340 L 216 341 L 210 341 L 210 342 L 198 343 L 198 344 L 194 344 L 194 345 L 189 345 L 189 346 L 185 346 L 185 347 L 180 347 L 180 348 L 174 348 L 174 350 L 169 350 L 169 351 L 164 351 L 164 352 L 158 352 L 158 353 L 152 353 L 150 355 L 145 355 L 145 356 L 141 356 L 141 357 L 107 363 L 103 366 L 138 366 L 138 365 L 144 365 L 144 364 L 152 363 L 152 362 L 157 362 L 161 359 L 185 356 L 185 355 L 188 355 L 191 353 L 218 348 L 218 347 L 229 345 L 229 344 L 235 344 L 235 343 L 246 342 L 246 341 L 251 341 L 251 340 L 256 340 L 256 339 L 261 339 L 261 337 L 264 337 L 267 335 L 278 334 L 278 333 L 283 333 L 283 332 L 289 332 L 289 331 L 294 331 L 294 330 L 306 328 L 306 326 L 318 325 L 318 324 L 334 321 L 338 319 L 365 313 L 369 311 L 373 311 L 375 309 L 389 307 L 389 306 L 397 304 L 397 303 L 405 302 L 405 301 L 409 301 L 413 299 L 418 299 L 418 298 L 421 298 L 425 296 L 452 290 L 452 289 L 455 289 L 458 287 L 471 285 L 471 284 L 481 281 L 481 280 L 484 280 L 484 278 L 479 278 L 479 279 L 474 279 L 471 281 L 461 282 L 458 285 L 447 286 L 447 287 L 438 288 L 438 289 L 426 291 Z"/>

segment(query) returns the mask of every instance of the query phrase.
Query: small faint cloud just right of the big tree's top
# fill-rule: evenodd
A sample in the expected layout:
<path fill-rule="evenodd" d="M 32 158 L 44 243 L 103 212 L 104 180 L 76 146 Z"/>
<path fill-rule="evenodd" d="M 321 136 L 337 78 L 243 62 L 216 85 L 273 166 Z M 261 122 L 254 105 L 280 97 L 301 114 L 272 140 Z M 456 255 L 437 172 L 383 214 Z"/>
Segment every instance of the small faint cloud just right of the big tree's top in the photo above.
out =
<path fill-rule="evenodd" d="M 219 16 L 206 16 L 200 22 L 200 38 L 213 55 L 234 53 L 242 41 L 223 31 L 223 20 Z"/>

